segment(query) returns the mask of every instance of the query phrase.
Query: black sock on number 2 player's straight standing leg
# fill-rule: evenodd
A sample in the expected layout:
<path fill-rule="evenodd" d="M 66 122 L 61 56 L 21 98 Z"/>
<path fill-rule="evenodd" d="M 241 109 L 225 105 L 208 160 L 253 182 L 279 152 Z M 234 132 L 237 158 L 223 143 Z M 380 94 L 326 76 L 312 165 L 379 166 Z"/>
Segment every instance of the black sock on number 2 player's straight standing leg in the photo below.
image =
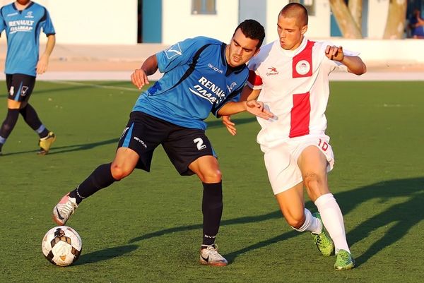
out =
<path fill-rule="evenodd" d="M 203 183 L 204 193 L 201 204 L 201 211 L 204 215 L 203 222 L 203 244 L 211 245 L 215 243 L 218 234 L 220 219 L 223 215 L 223 184 Z"/>

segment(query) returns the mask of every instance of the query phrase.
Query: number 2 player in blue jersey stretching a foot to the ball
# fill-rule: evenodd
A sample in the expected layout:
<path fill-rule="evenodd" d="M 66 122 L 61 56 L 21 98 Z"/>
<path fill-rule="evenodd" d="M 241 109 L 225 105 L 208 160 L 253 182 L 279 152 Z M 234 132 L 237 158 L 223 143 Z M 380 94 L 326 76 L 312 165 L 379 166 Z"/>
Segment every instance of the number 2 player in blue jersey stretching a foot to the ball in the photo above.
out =
<path fill-rule="evenodd" d="M 113 162 L 100 165 L 64 195 L 53 209 L 54 221 L 65 224 L 83 199 L 135 168 L 149 171 L 153 151 L 162 145 L 179 174 L 196 174 L 203 183 L 201 263 L 227 265 L 215 244 L 223 212 L 222 182 L 204 119 L 211 112 L 221 116 L 243 111 L 271 118 L 261 102 L 238 102 L 249 73 L 245 63 L 257 54 L 264 37 L 261 24 L 245 20 L 230 44 L 195 37 L 148 57 L 131 75 L 132 83 L 141 89 L 158 69 L 163 78 L 136 101 Z"/>

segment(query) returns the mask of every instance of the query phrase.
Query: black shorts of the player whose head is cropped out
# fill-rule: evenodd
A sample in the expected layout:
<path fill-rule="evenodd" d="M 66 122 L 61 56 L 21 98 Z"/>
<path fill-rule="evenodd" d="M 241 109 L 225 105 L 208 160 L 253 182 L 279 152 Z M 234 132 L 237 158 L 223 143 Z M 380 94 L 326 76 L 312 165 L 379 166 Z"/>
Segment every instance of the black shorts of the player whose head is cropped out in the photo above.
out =
<path fill-rule="evenodd" d="M 27 102 L 33 93 L 35 77 L 24 75 L 23 73 L 6 73 L 6 86 L 8 99 L 18 102 Z"/>

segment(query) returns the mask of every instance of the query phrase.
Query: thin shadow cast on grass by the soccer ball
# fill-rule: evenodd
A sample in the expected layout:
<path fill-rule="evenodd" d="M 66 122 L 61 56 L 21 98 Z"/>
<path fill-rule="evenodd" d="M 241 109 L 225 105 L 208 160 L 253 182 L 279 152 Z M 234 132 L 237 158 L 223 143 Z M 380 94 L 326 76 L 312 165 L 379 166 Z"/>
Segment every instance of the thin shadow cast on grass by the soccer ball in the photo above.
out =
<path fill-rule="evenodd" d="M 88 263 L 98 263 L 102 260 L 110 260 L 111 258 L 117 258 L 126 253 L 131 253 L 131 251 L 135 251 L 137 248 L 139 248 L 139 246 L 126 245 L 114 248 L 104 248 L 100 251 L 93 251 L 92 253 L 83 253 L 73 265 L 86 265 Z"/>

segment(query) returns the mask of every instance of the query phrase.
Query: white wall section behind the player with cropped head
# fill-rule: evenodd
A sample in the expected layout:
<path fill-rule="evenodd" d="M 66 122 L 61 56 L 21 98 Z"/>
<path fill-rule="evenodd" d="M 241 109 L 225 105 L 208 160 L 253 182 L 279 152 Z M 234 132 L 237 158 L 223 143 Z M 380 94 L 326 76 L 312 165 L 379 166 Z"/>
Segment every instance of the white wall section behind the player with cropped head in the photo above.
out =
<path fill-rule="evenodd" d="M 0 0 L 1 6 L 12 1 Z M 53 20 L 59 44 L 136 44 L 137 0 L 35 0 Z M 45 41 L 41 36 L 40 41 Z"/>

